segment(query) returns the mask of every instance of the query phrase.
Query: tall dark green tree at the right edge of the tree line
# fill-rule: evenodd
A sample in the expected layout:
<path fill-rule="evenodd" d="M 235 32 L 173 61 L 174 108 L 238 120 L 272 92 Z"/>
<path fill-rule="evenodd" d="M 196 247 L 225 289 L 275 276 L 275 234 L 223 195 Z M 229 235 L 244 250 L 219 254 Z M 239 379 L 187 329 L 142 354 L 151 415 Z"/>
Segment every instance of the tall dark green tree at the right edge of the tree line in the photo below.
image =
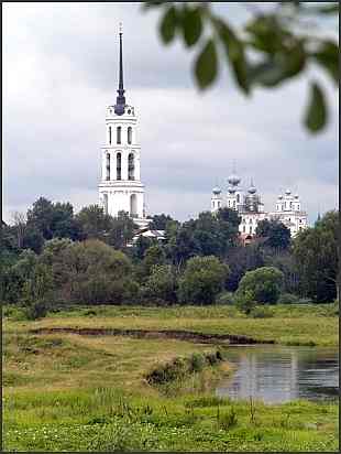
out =
<path fill-rule="evenodd" d="M 315 227 L 301 230 L 294 240 L 300 291 L 316 302 L 330 302 L 339 296 L 339 228 L 338 213 L 328 212 Z"/>

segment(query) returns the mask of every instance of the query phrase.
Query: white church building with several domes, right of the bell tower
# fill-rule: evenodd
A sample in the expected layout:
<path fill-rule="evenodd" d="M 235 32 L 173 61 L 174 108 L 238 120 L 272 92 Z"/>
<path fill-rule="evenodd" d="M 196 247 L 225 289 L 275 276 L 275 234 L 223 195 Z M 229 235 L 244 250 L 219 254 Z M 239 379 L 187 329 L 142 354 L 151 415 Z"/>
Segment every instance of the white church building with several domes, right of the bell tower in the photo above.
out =
<path fill-rule="evenodd" d="M 278 195 L 275 210 L 265 212 L 264 204 L 252 181 L 250 187 L 245 191 L 240 186 L 240 176 L 233 172 L 229 176 L 226 197 L 223 197 L 220 187 L 213 188 L 211 212 L 217 213 L 222 207 L 235 209 L 241 217 L 239 231 L 242 237 L 255 236 L 258 223 L 264 219 L 279 220 L 290 230 L 292 237 L 307 228 L 307 213 L 301 210 L 299 195 L 293 195 L 290 190 L 287 190 L 283 195 Z"/>

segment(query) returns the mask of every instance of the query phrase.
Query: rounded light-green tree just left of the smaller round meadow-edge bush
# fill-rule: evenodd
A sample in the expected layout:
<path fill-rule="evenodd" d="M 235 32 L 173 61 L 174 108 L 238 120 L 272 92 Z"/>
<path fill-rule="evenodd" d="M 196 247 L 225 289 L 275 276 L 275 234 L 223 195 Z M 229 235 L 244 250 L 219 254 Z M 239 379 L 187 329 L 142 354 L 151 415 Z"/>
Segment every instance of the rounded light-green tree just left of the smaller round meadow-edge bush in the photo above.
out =
<path fill-rule="evenodd" d="M 217 257 L 194 257 L 186 263 L 179 279 L 178 299 L 183 303 L 211 304 L 223 289 L 229 273 L 228 266 Z"/>

